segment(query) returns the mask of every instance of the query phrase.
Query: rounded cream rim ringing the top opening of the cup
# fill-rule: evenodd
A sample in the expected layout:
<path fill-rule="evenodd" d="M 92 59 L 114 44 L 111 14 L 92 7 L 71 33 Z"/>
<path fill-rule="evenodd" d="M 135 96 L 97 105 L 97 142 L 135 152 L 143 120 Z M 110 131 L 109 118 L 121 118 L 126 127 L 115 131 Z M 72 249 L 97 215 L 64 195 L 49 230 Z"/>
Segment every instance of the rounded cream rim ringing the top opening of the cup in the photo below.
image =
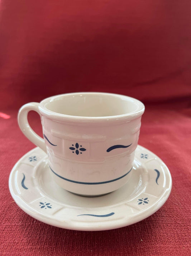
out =
<path fill-rule="evenodd" d="M 119 114 L 119 115 L 114 115 L 114 116 L 98 116 L 98 117 L 91 117 L 91 116 L 72 116 L 68 114 L 61 114 L 57 113 L 54 111 L 49 110 L 48 108 L 45 107 L 45 104 L 48 102 L 51 102 L 55 100 L 56 98 L 61 98 L 63 96 L 67 95 L 89 95 L 89 94 L 94 94 L 94 95 L 108 95 L 108 96 L 116 96 L 119 97 L 123 100 L 128 100 L 129 102 L 135 103 L 138 105 L 138 108 L 135 111 L 125 113 L 125 114 Z M 45 116 L 49 119 L 56 120 L 56 121 L 61 121 L 61 122 L 78 122 L 78 123 L 93 123 L 93 122 L 111 122 L 111 121 L 118 121 L 118 122 L 126 122 L 130 120 L 134 120 L 142 116 L 144 113 L 145 107 L 144 104 L 135 98 L 122 95 L 122 94 L 115 94 L 115 93 L 102 93 L 102 92 L 78 92 L 78 93 L 66 93 L 66 94 L 58 94 L 55 96 L 51 96 L 48 98 L 43 99 L 39 103 L 39 111 L 42 114 L 42 116 Z"/>

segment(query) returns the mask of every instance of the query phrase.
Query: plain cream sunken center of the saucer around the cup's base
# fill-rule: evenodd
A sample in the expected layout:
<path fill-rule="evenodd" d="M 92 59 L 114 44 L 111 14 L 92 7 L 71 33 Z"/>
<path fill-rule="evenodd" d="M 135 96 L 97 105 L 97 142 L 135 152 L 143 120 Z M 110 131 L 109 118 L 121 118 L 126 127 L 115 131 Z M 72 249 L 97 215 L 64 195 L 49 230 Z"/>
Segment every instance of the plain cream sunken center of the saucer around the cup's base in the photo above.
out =
<path fill-rule="evenodd" d="M 72 207 L 107 207 L 131 201 L 144 190 L 148 175 L 143 166 L 134 162 L 130 181 L 120 189 L 99 197 L 83 197 L 59 187 L 52 179 L 48 163 L 42 163 L 36 171 L 36 186 L 44 196 L 62 205 Z"/>

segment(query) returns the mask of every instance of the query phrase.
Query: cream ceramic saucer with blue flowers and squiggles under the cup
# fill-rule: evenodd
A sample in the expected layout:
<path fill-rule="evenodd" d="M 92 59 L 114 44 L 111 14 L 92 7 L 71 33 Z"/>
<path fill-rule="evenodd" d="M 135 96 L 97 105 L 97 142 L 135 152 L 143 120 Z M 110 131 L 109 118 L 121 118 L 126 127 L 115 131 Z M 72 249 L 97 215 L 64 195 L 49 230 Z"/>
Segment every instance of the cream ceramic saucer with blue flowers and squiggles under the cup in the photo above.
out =
<path fill-rule="evenodd" d="M 143 220 L 166 202 L 171 186 L 167 166 L 140 145 L 131 180 L 100 197 L 82 197 L 59 187 L 40 148 L 25 154 L 9 177 L 11 196 L 23 211 L 44 223 L 73 230 L 108 230 Z"/>

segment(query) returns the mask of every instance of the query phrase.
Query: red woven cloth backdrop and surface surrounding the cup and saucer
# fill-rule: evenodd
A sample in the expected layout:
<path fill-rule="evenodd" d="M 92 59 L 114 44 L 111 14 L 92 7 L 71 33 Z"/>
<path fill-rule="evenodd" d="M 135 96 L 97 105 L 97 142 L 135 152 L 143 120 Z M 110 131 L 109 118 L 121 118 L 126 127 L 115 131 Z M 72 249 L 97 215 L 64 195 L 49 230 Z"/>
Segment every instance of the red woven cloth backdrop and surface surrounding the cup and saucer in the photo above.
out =
<path fill-rule="evenodd" d="M 191 255 L 190 1 L 0 2 L 0 255 Z M 25 214 L 9 174 L 34 145 L 21 105 L 59 93 L 105 91 L 145 104 L 139 144 L 172 175 L 164 206 L 124 228 L 81 232 Z M 10 118 L 9 118 L 10 117 Z M 29 121 L 41 134 L 38 114 Z"/>

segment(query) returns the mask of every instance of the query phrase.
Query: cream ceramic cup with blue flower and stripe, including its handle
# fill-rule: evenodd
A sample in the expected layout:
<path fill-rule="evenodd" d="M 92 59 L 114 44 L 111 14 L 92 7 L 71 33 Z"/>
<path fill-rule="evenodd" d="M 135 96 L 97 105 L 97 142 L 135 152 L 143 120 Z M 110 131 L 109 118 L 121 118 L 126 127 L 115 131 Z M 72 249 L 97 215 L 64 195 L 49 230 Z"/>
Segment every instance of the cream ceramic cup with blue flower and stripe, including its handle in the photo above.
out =
<path fill-rule="evenodd" d="M 41 117 L 44 139 L 28 123 L 32 110 Z M 18 123 L 25 136 L 47 153 L 59 186 L 98 196 L 130 179 L 143 112 L 143 103 L 128 96 L 69 93 L 25 104 Z"/>

